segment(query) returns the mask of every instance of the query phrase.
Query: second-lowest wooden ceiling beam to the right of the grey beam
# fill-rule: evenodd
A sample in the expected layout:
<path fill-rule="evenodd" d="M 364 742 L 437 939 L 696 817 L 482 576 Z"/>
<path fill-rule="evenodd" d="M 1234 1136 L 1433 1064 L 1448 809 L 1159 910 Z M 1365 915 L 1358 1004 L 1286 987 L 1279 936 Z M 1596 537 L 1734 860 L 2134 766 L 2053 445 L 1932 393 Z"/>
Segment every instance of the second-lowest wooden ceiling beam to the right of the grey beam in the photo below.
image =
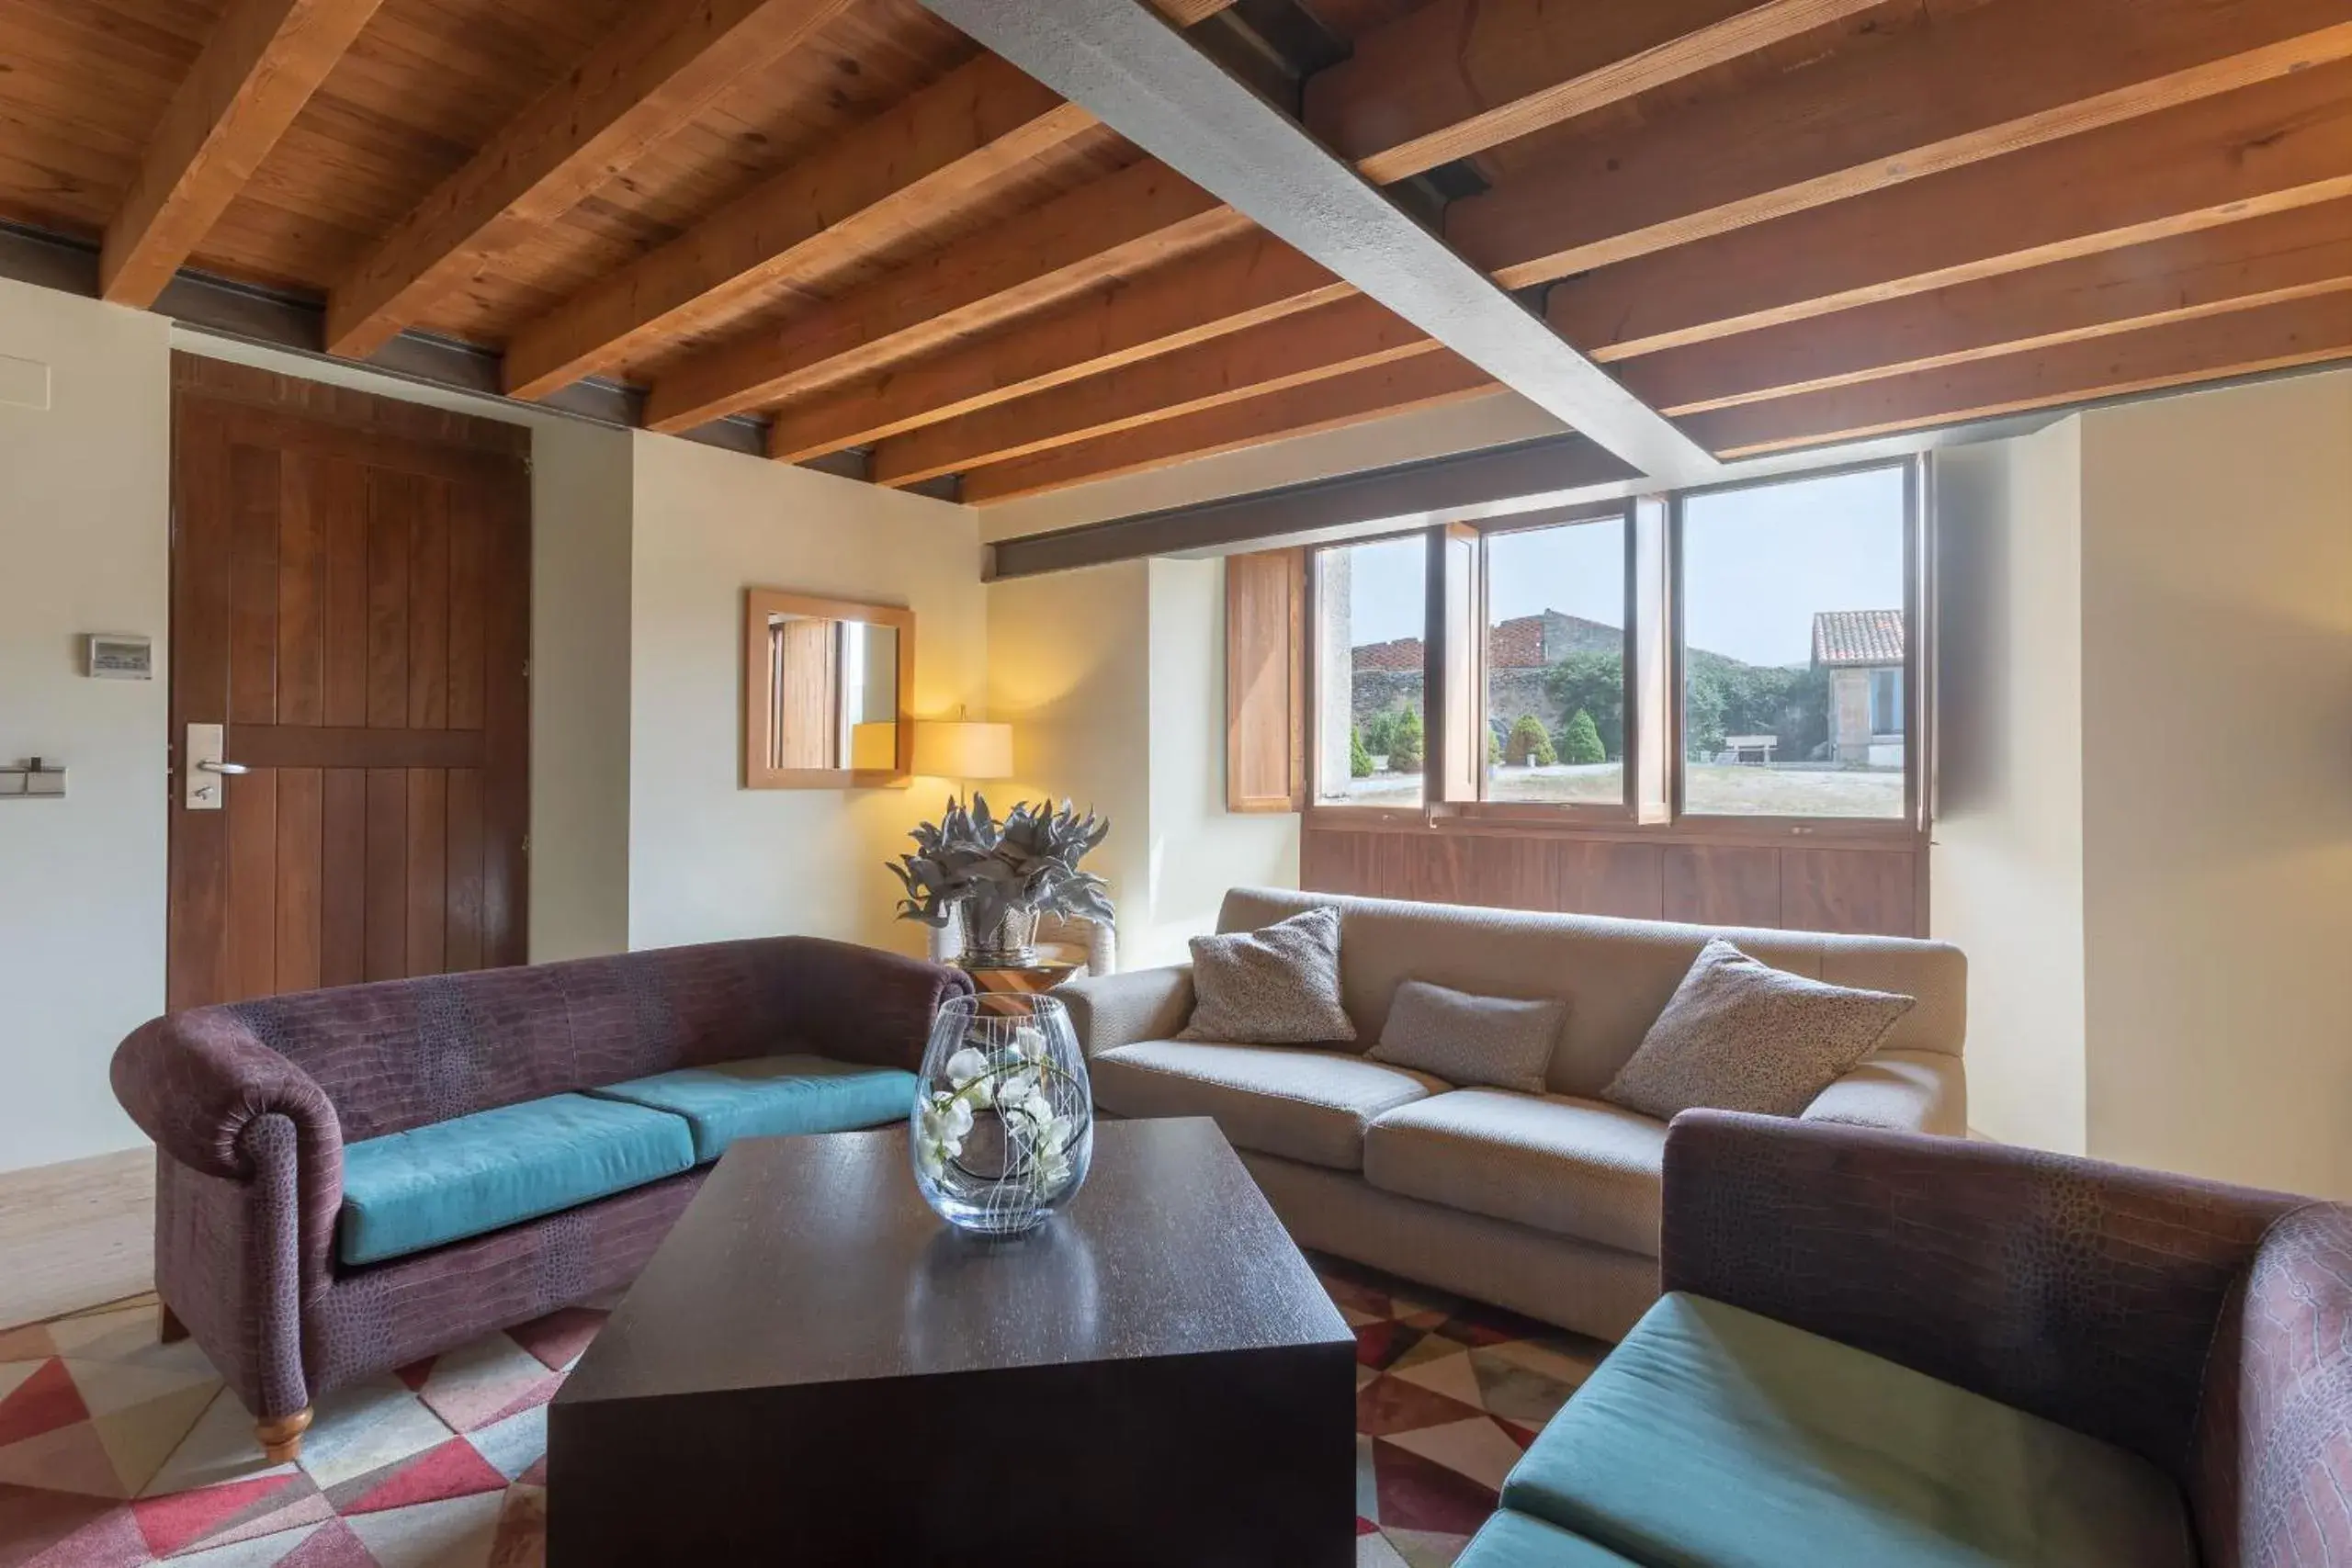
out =
<path fill-rule="evenodd" d="M 2352 289 L 2352 202 L 2006 273 L 1618 367 L 1672 416 Z"/>

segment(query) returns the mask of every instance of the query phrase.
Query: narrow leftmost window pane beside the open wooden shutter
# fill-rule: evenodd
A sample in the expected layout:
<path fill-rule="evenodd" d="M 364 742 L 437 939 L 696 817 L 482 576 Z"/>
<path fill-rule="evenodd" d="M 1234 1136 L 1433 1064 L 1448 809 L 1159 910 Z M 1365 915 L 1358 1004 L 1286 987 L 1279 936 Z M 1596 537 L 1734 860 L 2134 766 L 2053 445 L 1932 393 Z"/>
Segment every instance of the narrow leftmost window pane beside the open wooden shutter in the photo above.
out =
<path fill-rule="evenodd" d="M 1315 555 L 1315 799 L 1418 806 L 1428 541 Z"/>

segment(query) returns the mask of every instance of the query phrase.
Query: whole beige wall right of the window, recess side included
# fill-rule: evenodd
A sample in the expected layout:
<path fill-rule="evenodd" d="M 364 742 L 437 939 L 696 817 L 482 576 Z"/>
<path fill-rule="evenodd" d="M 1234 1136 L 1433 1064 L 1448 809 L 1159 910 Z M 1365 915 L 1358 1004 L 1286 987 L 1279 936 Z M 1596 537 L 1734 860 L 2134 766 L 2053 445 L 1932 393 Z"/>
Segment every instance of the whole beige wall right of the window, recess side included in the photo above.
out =
<path fill-rule="evenodd" d="M 2352 374 L 1940 463 L 1971 1121 L 2352 1199 Z"/>

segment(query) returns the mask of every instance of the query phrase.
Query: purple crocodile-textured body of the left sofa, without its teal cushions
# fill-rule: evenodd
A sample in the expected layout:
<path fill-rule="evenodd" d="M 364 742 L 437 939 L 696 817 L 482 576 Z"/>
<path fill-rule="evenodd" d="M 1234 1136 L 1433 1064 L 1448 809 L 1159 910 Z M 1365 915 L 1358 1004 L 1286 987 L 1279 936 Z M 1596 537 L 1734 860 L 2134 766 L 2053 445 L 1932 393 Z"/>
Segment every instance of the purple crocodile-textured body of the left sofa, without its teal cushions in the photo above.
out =
<path fill-rule="evenodd" d="M 971 983 L 844 943 L 767 938 L 235 1001 L 115 1051 L 155 1140 L 155 1288 L 292 1458 L 320 1392 L 626 1284 L 701 1185 L 684 1171 L 430 1251 L 336 1258 L 343 1145 L 774 1053 L 913 1070 Z"/>

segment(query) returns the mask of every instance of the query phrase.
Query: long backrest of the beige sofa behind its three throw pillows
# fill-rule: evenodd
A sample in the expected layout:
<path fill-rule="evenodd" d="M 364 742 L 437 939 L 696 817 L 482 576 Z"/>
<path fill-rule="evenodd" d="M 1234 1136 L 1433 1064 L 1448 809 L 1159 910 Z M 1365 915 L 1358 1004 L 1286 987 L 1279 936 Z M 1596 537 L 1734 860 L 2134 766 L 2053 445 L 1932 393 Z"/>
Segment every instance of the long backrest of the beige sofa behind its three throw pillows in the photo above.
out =
<path fill-rule="evenodd" d="M 1359 1039 L 1381 1037 L 1397 980 L 1406 978 L 1482 997 L 1557 997 L 1569 1004 L 1569 1020 L 1545 1084 L 1564 1095 L 1602 1091 L 1712 936 L 1809 980 L 1917 997 L 1919 1004 L 1886 1032 L 1882 1051 L 1959 1056 L 1969 1032 L 1962 952 L 1898 936 L 1677 926 L 1287 889 L 1232 889 L 1218 929 L 1249 931 L 1310 905 L 1341 912 L 1341 1001 Z"/>

